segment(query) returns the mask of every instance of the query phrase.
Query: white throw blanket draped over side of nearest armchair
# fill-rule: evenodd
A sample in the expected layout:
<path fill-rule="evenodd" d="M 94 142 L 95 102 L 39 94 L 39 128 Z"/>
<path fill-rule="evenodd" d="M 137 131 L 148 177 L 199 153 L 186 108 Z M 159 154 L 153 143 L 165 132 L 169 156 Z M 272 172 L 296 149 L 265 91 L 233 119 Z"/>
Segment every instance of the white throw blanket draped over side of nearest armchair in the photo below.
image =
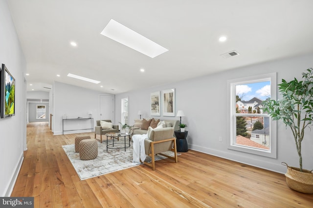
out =
<path fill-rule="evenodd" d="M 134 134 L 133 140 L 133 163 L 140 163 L 146 159 L 145 152 L 145 139 L 148 138 L 148 134 Z"/>

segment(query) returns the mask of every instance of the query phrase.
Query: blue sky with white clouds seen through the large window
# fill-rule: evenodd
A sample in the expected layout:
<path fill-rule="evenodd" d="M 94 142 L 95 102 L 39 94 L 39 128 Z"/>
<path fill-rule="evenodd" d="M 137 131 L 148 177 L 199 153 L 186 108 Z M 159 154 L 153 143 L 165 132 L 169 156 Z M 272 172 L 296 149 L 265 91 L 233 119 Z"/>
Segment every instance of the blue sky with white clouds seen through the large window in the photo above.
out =
<path fill-rule="evenodd" d="M 236 95 L 245 101 L 253 97 L 266 100 L 270 97 L 270 81 L 236 85 Z"/>

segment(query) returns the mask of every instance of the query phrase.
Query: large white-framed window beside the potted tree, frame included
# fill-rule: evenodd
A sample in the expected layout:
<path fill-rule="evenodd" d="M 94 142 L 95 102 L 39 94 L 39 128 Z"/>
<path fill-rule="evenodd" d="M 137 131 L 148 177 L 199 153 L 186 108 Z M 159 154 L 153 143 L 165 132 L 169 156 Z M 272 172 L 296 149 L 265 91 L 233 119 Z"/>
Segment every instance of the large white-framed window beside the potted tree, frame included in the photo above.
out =
<path fill-rule="evenodd" d="M 276 121 L 263 112 L 266 99 L 276 99 L 276 73 L 227 81 L 227 147 L 276 158 Z"/>

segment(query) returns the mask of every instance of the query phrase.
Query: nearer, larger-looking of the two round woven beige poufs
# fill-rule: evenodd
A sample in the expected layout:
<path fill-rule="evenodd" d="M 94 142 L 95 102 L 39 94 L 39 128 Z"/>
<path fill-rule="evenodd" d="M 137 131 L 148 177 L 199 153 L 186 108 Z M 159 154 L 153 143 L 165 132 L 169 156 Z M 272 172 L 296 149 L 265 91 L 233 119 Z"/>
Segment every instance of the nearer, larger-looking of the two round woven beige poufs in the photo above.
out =
<path fill-rule="evenodd" d="M 79 142 L 81 160 L 92 160 L 98 156 L 98 142 L 95 139 L 84 139 Z"/>

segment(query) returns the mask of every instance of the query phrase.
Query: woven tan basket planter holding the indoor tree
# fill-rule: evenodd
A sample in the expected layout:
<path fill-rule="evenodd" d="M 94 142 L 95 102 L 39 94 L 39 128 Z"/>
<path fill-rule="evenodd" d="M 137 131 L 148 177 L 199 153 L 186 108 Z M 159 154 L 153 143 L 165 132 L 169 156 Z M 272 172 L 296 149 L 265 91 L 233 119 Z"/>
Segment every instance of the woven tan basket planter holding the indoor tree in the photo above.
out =
<path fill-rule="evenodd" d="M 287 164 L 286 164 L 287 165 Z M 286 182 L 289 188 L 301 193 L 313 193 L 313 170 L 305 170 L 287 165 Z"/>

